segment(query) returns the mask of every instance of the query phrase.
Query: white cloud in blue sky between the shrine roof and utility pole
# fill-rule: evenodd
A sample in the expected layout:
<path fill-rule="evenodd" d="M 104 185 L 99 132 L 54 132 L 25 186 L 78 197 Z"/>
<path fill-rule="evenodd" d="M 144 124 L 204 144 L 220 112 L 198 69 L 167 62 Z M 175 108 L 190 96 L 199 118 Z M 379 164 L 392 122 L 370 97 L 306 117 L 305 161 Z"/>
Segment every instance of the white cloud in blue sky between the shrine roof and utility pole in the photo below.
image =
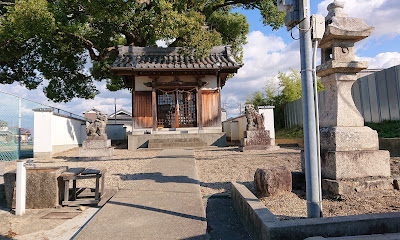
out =
<path fill-rule="evenodd" d="M 222 90 L 221 100 L 226 103 L 229 117 L 239 114 L 239 104 L 244 104 L 249 94 L 263 91 L 279 71 L 300 68 L 298 41 L 285 44 L 282 38 L 260 31 L 249 33 L 247 41 L 243 48 L 244 66 Z"/>

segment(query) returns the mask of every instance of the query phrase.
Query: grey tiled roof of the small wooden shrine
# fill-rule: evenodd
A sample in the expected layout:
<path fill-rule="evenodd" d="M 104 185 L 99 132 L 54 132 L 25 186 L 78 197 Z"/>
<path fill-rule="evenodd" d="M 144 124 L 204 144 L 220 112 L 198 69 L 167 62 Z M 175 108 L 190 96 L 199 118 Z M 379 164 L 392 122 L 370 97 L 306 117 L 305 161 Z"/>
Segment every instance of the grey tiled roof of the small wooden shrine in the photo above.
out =
<path fill-rule="evenodd" d="M 210 50 L 205 58 L 180 54 L 180 47 L 151 48 L 119 46 L 119 55 L 110 66 L 112 70 L 237 70 L 238 64 L 231 55 L 229 46 L 218 46 Z"/>

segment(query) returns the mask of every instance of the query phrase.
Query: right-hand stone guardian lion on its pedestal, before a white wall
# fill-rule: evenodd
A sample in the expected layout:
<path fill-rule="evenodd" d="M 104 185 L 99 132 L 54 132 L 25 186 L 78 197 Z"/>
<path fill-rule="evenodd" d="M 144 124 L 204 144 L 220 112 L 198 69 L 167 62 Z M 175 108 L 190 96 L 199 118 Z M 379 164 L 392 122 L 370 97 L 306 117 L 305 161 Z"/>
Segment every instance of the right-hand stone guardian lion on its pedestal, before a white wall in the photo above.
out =
<path fill-rule="evenodd" d="M 246 132 L 241 140 L 240 150 L 275 150 L 279 147 L 271 145 L 269 131 L 264 128 L 264 118 L 259 114 L 254 106 L 245 106 L 247 119 Z"/>

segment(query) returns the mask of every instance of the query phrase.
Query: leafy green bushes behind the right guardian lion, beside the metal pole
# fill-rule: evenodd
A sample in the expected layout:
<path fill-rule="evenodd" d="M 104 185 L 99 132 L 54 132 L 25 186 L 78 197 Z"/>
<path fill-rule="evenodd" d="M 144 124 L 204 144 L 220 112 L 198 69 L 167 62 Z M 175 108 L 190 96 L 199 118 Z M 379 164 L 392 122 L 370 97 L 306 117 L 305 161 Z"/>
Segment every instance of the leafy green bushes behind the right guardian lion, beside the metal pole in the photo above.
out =
<path fill-rule="evenodd" d="M 256 91 L 247 97 L 247 104 L 258 106 L 275 106 L 274 120 L 275 127 L 281 129 L 285 127 L 284 107 L 288 102 L 295 101 L 302 97 L 301 76 L 299 71 L 290 69 L 289 73 L 279 72 L 278 84 L 271 83 L 271 79 L 266 84 L 264 92 Z M 322 85 L 321 80 L 317 80 L 317 91 L 323 91 L 325 87 Z"/>

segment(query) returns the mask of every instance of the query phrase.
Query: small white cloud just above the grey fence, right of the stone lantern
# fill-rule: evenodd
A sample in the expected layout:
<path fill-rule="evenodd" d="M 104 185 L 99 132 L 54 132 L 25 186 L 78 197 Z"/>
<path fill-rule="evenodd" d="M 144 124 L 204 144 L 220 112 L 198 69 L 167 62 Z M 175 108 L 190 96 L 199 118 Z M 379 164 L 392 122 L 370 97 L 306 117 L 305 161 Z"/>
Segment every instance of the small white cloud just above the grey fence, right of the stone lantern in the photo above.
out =
<path fill-rule="evenodd" d="M 385 52 L 379 53 L 375 57 L 356 57 L 356 60 L 368 61 L 370 69 L 390 68 L 400 64 L 400 53 Z"/>

